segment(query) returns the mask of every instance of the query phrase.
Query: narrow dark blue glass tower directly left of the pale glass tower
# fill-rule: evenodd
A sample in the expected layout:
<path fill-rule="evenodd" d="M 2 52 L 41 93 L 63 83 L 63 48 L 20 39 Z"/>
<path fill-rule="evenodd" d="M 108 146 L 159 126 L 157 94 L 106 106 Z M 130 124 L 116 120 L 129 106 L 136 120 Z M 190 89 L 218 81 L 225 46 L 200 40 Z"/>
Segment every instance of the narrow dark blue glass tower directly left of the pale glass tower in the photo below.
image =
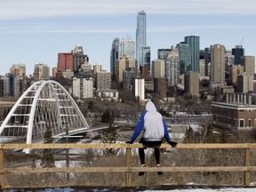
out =
<path fill-rule="evenodd" d="M 116 60 L 119 59 L 119 38 L 114 39 L 112 43 L 112 49 L 110 52 L 110 73 L 113 76 L 113 80 L 116 79 L 115 73 L 116 73 Z"/>

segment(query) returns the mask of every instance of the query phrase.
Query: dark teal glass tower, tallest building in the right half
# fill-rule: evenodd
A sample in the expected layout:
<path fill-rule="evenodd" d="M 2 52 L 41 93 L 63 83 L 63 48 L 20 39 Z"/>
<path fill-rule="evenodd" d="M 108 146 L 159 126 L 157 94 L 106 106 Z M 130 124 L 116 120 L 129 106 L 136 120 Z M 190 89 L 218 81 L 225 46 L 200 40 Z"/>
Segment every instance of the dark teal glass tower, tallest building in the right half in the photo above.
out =
<path fill-rule="evenodd" d="M 185 43 L 191 51 L 191 70 L 199 72 L 199 36 L 185 36 Z"/>

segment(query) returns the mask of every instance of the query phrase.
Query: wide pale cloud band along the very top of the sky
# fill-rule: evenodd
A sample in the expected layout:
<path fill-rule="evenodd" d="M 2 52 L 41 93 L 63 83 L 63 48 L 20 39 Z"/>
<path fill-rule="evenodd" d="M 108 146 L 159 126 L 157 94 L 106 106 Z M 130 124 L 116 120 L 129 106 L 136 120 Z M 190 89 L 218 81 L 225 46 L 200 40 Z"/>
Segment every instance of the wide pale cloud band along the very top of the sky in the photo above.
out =
<path fill-rule="evenodd" d="M 255 0 L 2 0 L 1 20 L 134 14 L 256 14 Z"/>

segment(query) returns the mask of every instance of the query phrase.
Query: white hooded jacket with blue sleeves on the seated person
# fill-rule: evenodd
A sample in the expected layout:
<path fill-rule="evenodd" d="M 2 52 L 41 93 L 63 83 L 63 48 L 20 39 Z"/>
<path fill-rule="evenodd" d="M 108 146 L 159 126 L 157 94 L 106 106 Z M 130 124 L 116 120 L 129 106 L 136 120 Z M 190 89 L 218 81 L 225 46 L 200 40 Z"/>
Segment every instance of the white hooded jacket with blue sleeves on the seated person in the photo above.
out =
<path fill-rule="evenodd" d="M 148 141 L 165 140 L 169 143 L 170 137 L 167 131 L 167 126 L 164 122 L 164 117 L 156 111 L 156 106 L 152 101 L 146 104 L 146 111 L 140 115 L 140 120 L 135 127 L 131 141 L 134 142 L 140 135 L 144 127 L 143 138 Z"/>

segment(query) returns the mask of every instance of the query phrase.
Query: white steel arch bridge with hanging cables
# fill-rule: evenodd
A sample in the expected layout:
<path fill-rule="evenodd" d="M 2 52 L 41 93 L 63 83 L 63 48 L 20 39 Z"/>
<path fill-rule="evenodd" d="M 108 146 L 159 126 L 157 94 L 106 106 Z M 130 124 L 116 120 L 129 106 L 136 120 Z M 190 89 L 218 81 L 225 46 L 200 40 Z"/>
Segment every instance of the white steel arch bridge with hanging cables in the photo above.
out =
<path fill-rule="evenodd" d="M 40 143 L 46 131 L 54 137 L 90 129 L 76 102 L 55 81 L 32 84 L 12 107 L 0 127 L 0 143 Z"/>

